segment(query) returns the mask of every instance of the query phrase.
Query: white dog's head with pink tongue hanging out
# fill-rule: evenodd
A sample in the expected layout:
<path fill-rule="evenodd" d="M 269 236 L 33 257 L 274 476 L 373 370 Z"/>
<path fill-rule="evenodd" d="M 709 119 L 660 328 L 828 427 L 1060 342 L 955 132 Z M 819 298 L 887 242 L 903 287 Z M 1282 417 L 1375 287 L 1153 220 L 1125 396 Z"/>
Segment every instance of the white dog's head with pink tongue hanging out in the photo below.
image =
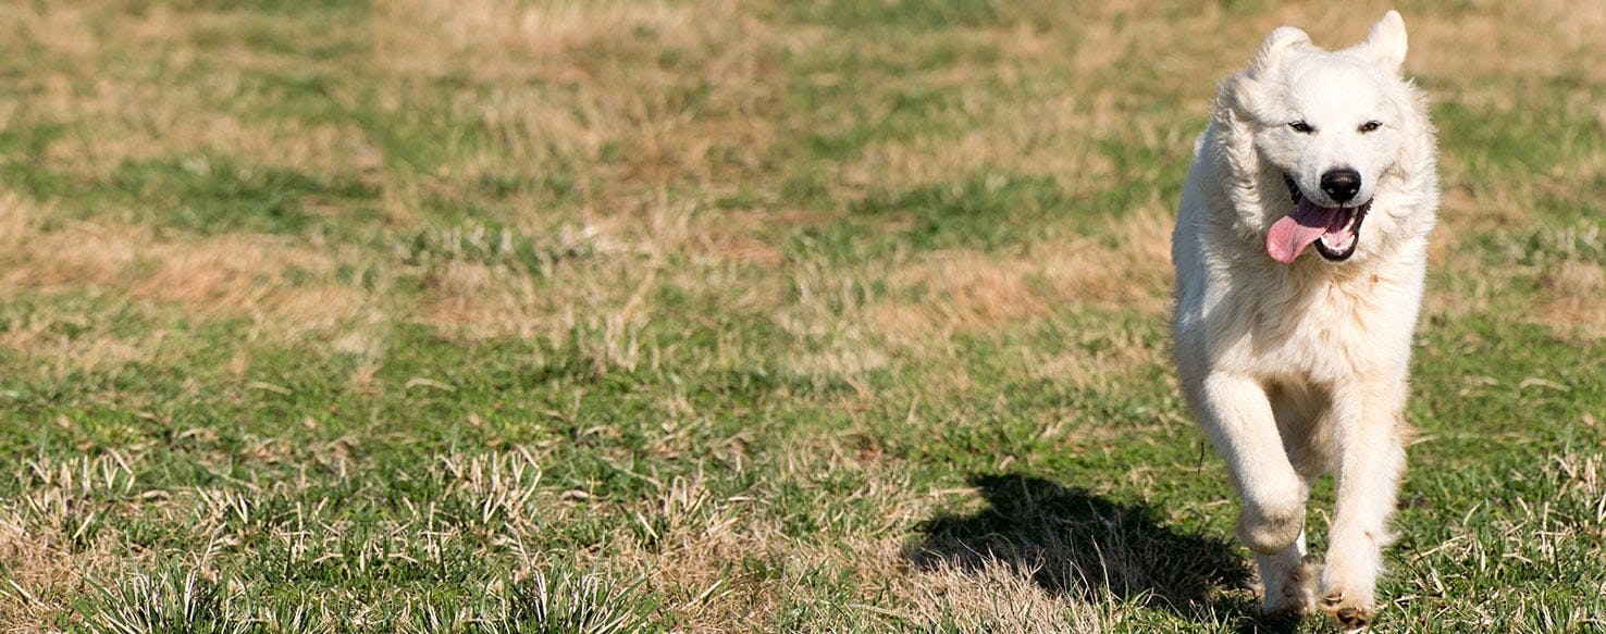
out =
<path fill-rule="evenodd" d="M 1365 258 L 1415 234 L 1421 207 L 1431 225 L 1433 128 L 1400 77 L 1404 59 L 1405 22 L 1389 11 L 1365 42 L 1339 51 L 1280 27 L 1222 85 L 1217 117 L 1246 136 L 1238 144 L 1248 157 L 1233 169 L 1256 189 L 1238 205 L 1241 220 L 1264 231 L 1272 258 L 1290 263 L 1312 244 L 1330 262 Z M 1434 199 L 1412 199 L 1423 196 Z"/>

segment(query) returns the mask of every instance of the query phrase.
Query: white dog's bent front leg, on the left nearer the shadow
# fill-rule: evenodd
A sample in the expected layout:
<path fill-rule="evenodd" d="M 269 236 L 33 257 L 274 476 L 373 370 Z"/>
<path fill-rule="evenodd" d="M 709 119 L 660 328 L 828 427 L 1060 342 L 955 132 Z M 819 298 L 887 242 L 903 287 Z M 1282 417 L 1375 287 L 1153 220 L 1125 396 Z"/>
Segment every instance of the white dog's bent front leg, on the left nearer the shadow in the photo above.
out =
<path fill-rule="evenodd" d="M 1309 612 L 1310 567 L 1302 560 L 1309 486 L 1288 462 L 1266 388 L 1249 377 L 1213 374 L 1188 396 L 1243 499 L 1238 538 L 1257 555 L 1262 608 Z"/>

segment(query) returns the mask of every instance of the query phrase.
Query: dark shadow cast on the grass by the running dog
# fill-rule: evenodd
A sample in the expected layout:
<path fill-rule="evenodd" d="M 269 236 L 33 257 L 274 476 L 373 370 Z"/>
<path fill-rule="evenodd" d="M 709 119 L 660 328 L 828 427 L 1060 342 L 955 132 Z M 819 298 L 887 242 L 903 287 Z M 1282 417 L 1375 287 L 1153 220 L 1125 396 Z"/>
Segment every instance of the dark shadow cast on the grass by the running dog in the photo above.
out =
<path fill-rule="evenodd" d="M 943 514 L 904 549 L 917 570 L 983 573 L 1005 565 L 1054 595 L 1171 610 L 1188 620 L 1238 621 L 1240 631 L 1277 631 L 1253 615 L 1253 573 L 1224 539 L 1177 531 L 1143 504 L 1113 502 L 1029 475 L 972 478 L 986 507 Z"/>

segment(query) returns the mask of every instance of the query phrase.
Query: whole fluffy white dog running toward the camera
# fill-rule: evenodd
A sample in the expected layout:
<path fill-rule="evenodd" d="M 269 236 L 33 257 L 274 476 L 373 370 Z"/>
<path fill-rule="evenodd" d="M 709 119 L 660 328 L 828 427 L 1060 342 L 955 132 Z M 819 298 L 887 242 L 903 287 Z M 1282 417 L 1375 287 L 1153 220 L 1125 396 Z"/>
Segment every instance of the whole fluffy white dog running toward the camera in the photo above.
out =
<path fill-rule="evenodd" d="M 1320 607 L 1351 629 L 1376 613 L 1439 204 L 1434 130 L 1404 58 L 1394 11 L 1341 51 L 1274 30 L 1221 83 L 1171 247 L 1182 392 L 1243 498 L 1264 610 Z M 1328 472 L 1338 499 L 1317 587 L 1306 498 Z"/>

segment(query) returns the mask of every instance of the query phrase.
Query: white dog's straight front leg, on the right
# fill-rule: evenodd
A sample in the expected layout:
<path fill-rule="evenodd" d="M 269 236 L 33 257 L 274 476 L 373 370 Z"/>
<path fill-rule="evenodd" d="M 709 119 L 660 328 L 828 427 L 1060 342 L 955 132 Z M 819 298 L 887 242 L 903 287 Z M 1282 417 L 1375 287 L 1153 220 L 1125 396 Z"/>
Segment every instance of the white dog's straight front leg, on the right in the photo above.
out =
<path fill-rule="evenodd" d="M 1394 514 L 1402 445 L 1400 390 L 1355 390 L 1335 400 L 1339 456 L 1333 526 L 1322 571 L 1322 610 L 1346 629 L 1376 615 L 1388 522 Z"/>

